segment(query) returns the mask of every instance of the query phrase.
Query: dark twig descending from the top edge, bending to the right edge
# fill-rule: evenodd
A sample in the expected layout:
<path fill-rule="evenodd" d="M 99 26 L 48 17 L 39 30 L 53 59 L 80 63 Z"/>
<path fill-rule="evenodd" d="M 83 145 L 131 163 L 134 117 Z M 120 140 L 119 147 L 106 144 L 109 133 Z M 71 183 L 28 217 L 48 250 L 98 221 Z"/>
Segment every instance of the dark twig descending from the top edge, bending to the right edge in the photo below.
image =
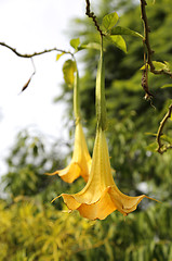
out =
<path fill-rule="evenodd" d="M 150 27 L 148 25 L 148 20 L 147 20 L 147 15 L 146 15 L 146 5 L 147 2 L 146 0 L 141 0 L 141 17 L 143 20 L 144 23 L 144 45 L 146 46 L 147 49 L 147 63 L 150 66 L 150 72 L 154 74 L 166 74 L 169 75 L 170 77 L 172 77 L 172 72 L 167 71 L 167 70 L 156 70 L 154 64 L 153 64 L 153 60 L 151 57 L 154 54 L 154 50 L 150 47 L 150 41 L 149 41 L 149 33 L 150 33 Z"/>

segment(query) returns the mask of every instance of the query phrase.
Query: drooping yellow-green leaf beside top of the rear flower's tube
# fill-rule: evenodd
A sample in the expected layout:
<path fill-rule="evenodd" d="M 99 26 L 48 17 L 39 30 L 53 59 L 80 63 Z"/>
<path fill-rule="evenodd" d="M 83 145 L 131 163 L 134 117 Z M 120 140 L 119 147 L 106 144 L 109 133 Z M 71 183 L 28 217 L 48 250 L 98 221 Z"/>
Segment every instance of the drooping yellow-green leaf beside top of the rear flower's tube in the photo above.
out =
<path fill-rule="evenodd" d="M 63 74 L 65 83 L 68 87 L 72 88 L 75 80 L 75 72 L 76 72 L 76 62 L 72 60 L 67 60 L 63 65 Z"/>

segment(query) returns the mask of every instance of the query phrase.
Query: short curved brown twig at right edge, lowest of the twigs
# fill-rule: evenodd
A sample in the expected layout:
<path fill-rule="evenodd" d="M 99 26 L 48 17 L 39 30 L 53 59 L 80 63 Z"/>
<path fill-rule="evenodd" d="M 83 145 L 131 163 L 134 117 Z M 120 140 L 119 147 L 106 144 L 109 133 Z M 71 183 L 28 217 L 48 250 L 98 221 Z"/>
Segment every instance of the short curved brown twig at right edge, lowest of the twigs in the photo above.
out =
<path fill-rule="evenodd" d="M 161 144 L 161 136 L 163 134 L 162 132 L 163 132 L 163 128 L 164 128 L 164 125 L 166 125 L 168 119 L 171 117 L 171 113 L 172 113 L 172 104 L 169 107 L 169 111 L 167 112 L 167 114 L 164 115 L 162 121 L 160 122 L 158 133 L 157 133 L 157 138 L 156 138 L 157 144 L 158 144 L 157 152 L 159 152 L 160 154 L 166 152 L 168 149 L 172 149 L 172 145 L 164 146 Z"/>

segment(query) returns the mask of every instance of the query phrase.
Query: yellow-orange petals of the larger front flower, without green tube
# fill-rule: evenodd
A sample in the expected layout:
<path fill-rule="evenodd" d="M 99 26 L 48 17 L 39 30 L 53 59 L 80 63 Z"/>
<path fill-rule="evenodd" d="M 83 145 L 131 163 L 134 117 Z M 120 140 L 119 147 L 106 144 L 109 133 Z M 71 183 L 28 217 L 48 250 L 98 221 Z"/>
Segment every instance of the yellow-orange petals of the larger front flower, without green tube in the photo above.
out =
<path fill-rule="evenodd" d="M 78 194 L 61 196 L 69 210 L 78 210 L 80 215 L 89 220 L 104 220 L 115 210 L 128 215 L 143 198 L 148 198 L 145 195 L 130 197 L 118 189 L 113 178 L 106 136 L 102 128 L 96 132 L 91 173 L 85 187 Z"/>

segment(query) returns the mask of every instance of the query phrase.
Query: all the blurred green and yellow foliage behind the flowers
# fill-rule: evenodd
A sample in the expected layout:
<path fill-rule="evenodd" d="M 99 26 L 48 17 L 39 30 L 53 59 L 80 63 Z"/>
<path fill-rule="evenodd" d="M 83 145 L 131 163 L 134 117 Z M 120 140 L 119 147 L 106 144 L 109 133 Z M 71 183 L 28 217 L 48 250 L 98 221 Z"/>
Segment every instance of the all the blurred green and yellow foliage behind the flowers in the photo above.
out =
<path fill-rule="evenodd" d="M 115 3 L 116 2 L 116 3 Z M 98 17 L 117 11 L 119 26 L 142 34 L 140 7 L 132 1 L 102 0 L 96 5 Z M 147 16 L 151 28 L 150 44 L 155 61 L 172 63 L 171 0 L 148 0 Z M 76 37 L 83 42 L 98 42 L 92 21 L 75 21 Z M 88 221 L 78 212 L 68 214 L 62 200 L 51 200 L 61 192 L 77 192 L 84 183 L 72 185 L 57 176 L 45 176 L 66 165 L 57 142 L 47 149 L 48 141 L 39 135 L 21 132 L 6 159 L 3 176 L 4 198 L 0 200 L 0 261 L 110 260 L 171 261 L 172 260 L 172 152 L 156 152 L 155 134 L 171 102 L 171 84 L 167 76 L 149 74 L 154 94 L 153 108 L 144 100 L 141 86 L 143 44 L 136 37 L 123 36 L 128 54 L 106 42 L 106 98 L 108 111 L 107 139 L 115 181 L 124 194 L 147 194 L 161 202 L 145 199 L 125 219 L 118 212 L 105 221 Z M 85 120 L 87 140 L 92 151 L 95 134 L 95 75 L 98 51 L 83 51 L 81 60 L 81 107 Z M 68 117 L 72 114 L 72 90 L 64 87 Z M 172 122 L 166 135 L 172 137 Z M 70 129 L 71 132 L 72 129 Z M 71 140 L 72 141 L 72 140 Z M 72 144 L 72 142 L 70 142 Z M 70 146 L 72 147 L 72 146 Z M 62 209 L 64 212 L 62 212 Z"/>

